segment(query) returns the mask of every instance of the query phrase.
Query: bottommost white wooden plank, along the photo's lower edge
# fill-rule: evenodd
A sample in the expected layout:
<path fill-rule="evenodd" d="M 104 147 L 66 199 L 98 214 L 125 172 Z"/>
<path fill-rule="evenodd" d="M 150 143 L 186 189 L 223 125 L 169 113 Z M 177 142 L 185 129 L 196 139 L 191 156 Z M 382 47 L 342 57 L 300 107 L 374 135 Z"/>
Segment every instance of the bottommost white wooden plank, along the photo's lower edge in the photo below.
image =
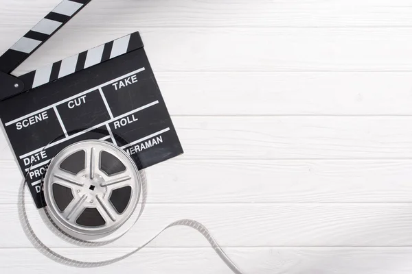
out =
<path fill-rule="evenodd" d="M 122 256 L 131 249 L 57 249 L 78 260 L 104 260 Z M 328 273 L 328 274 L 407 274 L 412 271 L 412 249 L 407 248 L 227 248 L 228 256 L 245 274 Z M 6 273 L 89 274 L 90 269 L 63 266 L 35 249 L 0 249 L 0 263 Z M 212 249 L 145 248 L 137 254 L 94 269 L 100 274 L 198 273 L 233 274 Z"/>

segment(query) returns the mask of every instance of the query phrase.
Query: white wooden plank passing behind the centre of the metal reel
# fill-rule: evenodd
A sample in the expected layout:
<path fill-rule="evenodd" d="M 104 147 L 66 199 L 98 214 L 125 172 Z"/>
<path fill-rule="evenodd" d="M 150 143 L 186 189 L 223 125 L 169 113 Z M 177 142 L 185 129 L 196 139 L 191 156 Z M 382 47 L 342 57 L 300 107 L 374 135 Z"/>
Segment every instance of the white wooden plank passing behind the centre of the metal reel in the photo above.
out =
<path fill-rule="evenodd" d="M 16 204 L 16 164 L 0 174 L 0 203 Z M 411 160 L 171 160 L 146 175 L 148 203 L 412 202 Z"/>

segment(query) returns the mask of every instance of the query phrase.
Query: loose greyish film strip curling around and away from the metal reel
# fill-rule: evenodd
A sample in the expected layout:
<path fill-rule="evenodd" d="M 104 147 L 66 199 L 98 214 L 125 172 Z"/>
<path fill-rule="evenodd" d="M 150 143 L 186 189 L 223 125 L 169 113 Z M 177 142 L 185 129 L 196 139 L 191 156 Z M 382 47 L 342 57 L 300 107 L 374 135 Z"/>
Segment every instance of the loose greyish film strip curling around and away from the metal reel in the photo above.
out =
<path fill-rule="evenodd" d="M 47 146 L 45 147 L 45 149 L 46 148 Z M 74 236 L 71 236 L 70 234 L 68 234 L 63 229 L 60 228 L 60 226 L 54 221 L 54 218 L 52 217 L 52 214 L 50 214 L 50 210 L 48 210 L 47 207 L 40 209 L 39 214 L 41 218 L 43 219 L 43 222 L 47 225 L 47 227 L 54 234 L 56 234 L 60 239 L 65 240 L 66 242 L 69 242 L 73 245 L 78 245 L 80 247 L 101 247 L 104 245 L 108 245 L 109 243 L 114 242 L 115 240 L 124 236 L 124 234 L 126 234 L 126 232 L 128 232 L 128 230 L 130 230 L 133 227 L 133 225 L 139 220 L 139 217 L 141 216 L 141 214 L 143 214 L 144 212 L 146 199 L 147 199 L 146 175 L 144 171 L 139 171 L 139 176 L 141 178 L 139 179 L 139 187 L 141 190 L 141 202 L 139 202 L 139 208 L 136 208 L 135 210 L 135 219 L 131 219 L 132 223 L 128 225 L 126 229 L 123 229 L 121 232 L 119 232 L 119 234 L 117 234 L 114 238 L 111 238 L 108 240 L 84 240 L 84 239 L 76 238 Z M 28 219 L 26 206 L 25 206 L 25 187 L 26 187 L 25 185 L 26 185 L 26 182 L 25 182 L 25 179 L 23 179 L 23 182 L 21 183 L 21 186 L 20 186 L 19 197 L 18 197 L 19 221 L 21 223 L 23 231 L 25 232 L 25 235 L 30 240 L 30 242 L 32 242 L 32 245 L 38 251 L 40 251 L 44 256 L 46 256 L 47 258 L 51 260 L 54 260 L 55 262 L 58 262 L 60 264 L 64 264 L 67 266 L 78 267 L 78 268 L 96 268 L 100 266 L 106 266 L 108 264 L 113 264 L 115 262 L 124 260 L 132 256 L 133 254 L 137 253 L 137 251 L 143 249 L 144 247 L 149 245 L 150 242 L 155 240 L 155 238 L 160 236 L 166 229 L 169 229 L 170 227 L 185 226 L 185 227 L 191 227 L 192 229 L 195 229 L 197 232 L 201 233 L 207 239 L 207 241 L 209 242 L 211 247 L 214 249 L 214 251 L 218 254 L 218 256 L 222 259 L 222 261 L 225 262 L 225 264 L 227 264 L 227 266 L 229 267 L 229 269 L 231 269 L 233 273 L 243 274 L 242 271 L 240 271 L 240 269 L 238 268 L 238 266 L 236 266 L 236 264 L 233 261 L 231 261 L 231 259 L 225 253 L 225 251 L 223 251 L 222 248 L 218 245 L 218 242 L 216 242 L 213 236 L 211 236 L 207 228 L 201 223 L 198 223 L 197 221 L 189 220 L 189 219 L 183 219 L 183 220 L 170 223 L 170 225 L 162 229 L 158 234 L 156 234 L 154 237 L 152 237 L 150 240 L 144 243 L 144 245 L 137 247 L 133 251 L 130 251 L 129 253 L 126 253 L 123 256 L 119 256 L 111 260 L 102 260 L 98 262 L 87 262 L 87 261 L 81 261 L 81 260 L 73 260 L 71 258 L 62 256 L 56 251 L 53 251 L 52 249 L 47 247 L 47 245 L 45 245 L 38 238 L 38 236 L 32 229 L 32 225 L 30 225 L 30 221 Z"/>

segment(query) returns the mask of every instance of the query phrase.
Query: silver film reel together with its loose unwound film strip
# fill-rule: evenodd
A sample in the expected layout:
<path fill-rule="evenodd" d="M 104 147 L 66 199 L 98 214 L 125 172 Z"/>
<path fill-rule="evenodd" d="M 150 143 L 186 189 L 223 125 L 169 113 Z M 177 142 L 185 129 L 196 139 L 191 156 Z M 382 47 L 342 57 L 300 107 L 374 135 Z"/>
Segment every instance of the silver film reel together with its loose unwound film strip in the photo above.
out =
<path fill-rule="evenodd" d="M 79 151 L 84 151 L 84 153 Z M 105 152 L 102 153 L 102 151 Z M 98 155 L 96 153 L 99 154 L 98 158 L 91 157 L 92 155 Z M 108 156 L 105 153 L 108 153 L 111 156 Z M 102 157 L 102 154 L 105 156 Z M 82 164 L 83 161 L 81 160 L 83 158 L 84 164 Z M 102 160 L 105 158 L 108 160 Z M 92 159 L 94 160 L 92 161 Z M 88 160 L 89 165 L 87 165 Z M 91 175 L 91 171 L 95 171 L 93 175 Z M 86 175 L 86 177 L 84 177 L 84 175 Z M 99 177 L 99 175 L 101 177 Z M 120 177 L 126 176 L 130 177 L 130 179 L 125 181 L 120 180 L 122 182 L 114 183 L 117 182 L 117 179 Z M 64 179 L 61 179 L 62 177 Z M 71 182 L 67 182 L 67 179 L 71 180 Z M 108 182 L 113 184 L 108 184 Z M 96 188 L 96 184 L 99 184 L 98 187 L 100 188 Z M 61 188 L 58 185 L 65 188 Z M 105 189 L 104 187 L 106 187 L 106 185 L 113 185 L 115 187 Z M 94 186 L 94 188 L 91 186 Z M 130 192 L 130 195 L 124 196 L 124 199 L 128 199 L 127 206 L 122 206 L 122 208 L 120 208 L 118 204 L 116 205 L 119 201 L 115 199 L 111 201 L 110 197 L 112 197 L 113 190 L 129 186 L 131 188 L 130 191 L 128 191 Z M 25 189 L 26 182 L 23 180 L 19 191 L 18 201 L 19 221 L 23 228 L 23 232 L 39 252 L 60 264 L 78 268 L 96 268 L 114 264 L 115 262 L 124 260 L 137 253 L 170 227 L 185 226 L 195 229 L 205 237 L 211 248 L 214 249 L 216 254 L 223 262 L 225 262 L 233 273 L 243 274 L 238 266 L 236 266 L 236 264 L 227 256 L 225 251 L 218 245 L 218 242 L 211 236 L 207 228 L 201 223 L 189 219 L 182 219 L 170 223 L 170 225 L 161 229 L 159 233 L 145 242 L 144 245 L 117 258 L 98 262 L 87 262 L 67 258 L 47 247 L 32 229 L 25 208 Z M 39 214 L 44 223 L 60 239 L 81 247 L 101 247 L 103 245 L 108 245 L 126 234 L 143 213 L 147 196 L 146 176 L 144 171 L 139 171 L 133 160 L 131 160 L 122 149 L 101 140 L 85 140 L 77 142 L 60 151 L 52 159 L 52 162 L 49 165 L 49 169 L 45 176 L 44 190 L 45 200 L 49 202 L 48 206 L 39 210 Z M 95 190 L 98 191 L 93 192 Z M 104 203 L 100 203 L 98 200 L 97 203 L 95 203 L 95 199 L 90 203 L 90 200 L 82 199 L 84 195 L 87 195 L 87 198 L 93 198 L 97 196 L 100 197 L 103 194 L 107 199 L 104 200 Z M 71 198 L 71 196 L 74 195 L 78 195 L 78 197 Z M 89 203 L 87 203 L 88 201 Z M 112 204 L 110 205 L 110 203 Z M 102 204 L 104 206 L 102 206 Z M 112 219 L 111 222 L 103 224 L 100 220 L 101 223 L 98 223 L 97 221 L 95 223 L 95 219 L 99 219 L 99 217 L 95 214 L 91 214 L 87 215 L 91 216 L 91 220 L 93 220 L 90 223 L 82 223 L 82 221 L 78 222 L 79 217 L 82 216 L 86 208 L 95 208 L 104 221 L 111 219 L 111 216 L 109 216 L 107 212 L 105 213 L 104 209 L 108 206 L 112 206 L 112 210 L 117 210 L 115 219 L 120 216 L 119 219 L 116 219 L 117 221 L 113 221 Z M 72 212 L 71 209 L 73 208 L 76 209 L 74 211 L 76 214 L 69 214 Z M 123 213 L 120 213 L 121 211 L 123 211 Z M 69 216 L 69 218 L 67 218 L 67 216 Z"/>

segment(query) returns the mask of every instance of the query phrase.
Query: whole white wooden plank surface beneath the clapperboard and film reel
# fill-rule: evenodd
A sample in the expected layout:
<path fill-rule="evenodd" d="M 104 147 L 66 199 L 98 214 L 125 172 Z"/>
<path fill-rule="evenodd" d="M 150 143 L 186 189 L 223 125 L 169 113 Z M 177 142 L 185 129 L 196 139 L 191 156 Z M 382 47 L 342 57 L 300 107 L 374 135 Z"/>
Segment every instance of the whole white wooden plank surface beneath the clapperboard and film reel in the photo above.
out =
<path fill-rule="evenodd" d="M 0 0 L 0 52 L 59 2 Z M 62 242 L 30 204 L 41 240 L 102 260 L 192 218 L 245 274 L 412 273 L 412 0 L 93 0 L 16 73 L 136 30 L 185 155 L 147 170 L 115 243 Z M 23 234 L 3 135 L 0 176 L 0 273 L 231 273 L 184 227 L 98 270 L 57 264 Z"/>

